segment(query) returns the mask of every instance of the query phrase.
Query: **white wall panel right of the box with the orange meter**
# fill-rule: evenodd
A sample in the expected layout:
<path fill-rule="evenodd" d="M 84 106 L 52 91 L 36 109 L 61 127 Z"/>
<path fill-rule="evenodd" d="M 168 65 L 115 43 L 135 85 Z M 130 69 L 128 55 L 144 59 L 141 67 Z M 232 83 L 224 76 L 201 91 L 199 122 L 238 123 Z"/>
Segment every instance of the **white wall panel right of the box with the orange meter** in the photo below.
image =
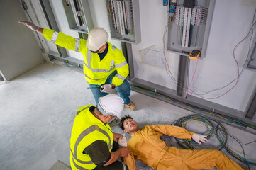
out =
<path fill-rule="evenodd" d="M 228 94 L 221 96 L 232 88 L 235 81 L 229 86 L 226 86 L 226 84 L 238 77 L 237 66 L 233 59 L 233 49 L 240 40 L 245 38 L 250 30 L 255 11 L 255 7 L 241 6 L 240 4 L 240 0 L 216 1 L 206 58 L 198 64 L 201 69 L 196 72 L 193 86 L 195 91 L 196 88 L 206 92 L 211 91 L 211 93 L 203 96 L 208 101 L 235 108 L 239 111 L 245 111 L 256 84 L 255 72 L 244 70 L 243 74 L 240 75 L 238 85 Z M 235 50 L 235 57 L 238 60 L 240 71 L 247 57 L 249 41 L 250 37 L 240 43 Z M 195 63 L 191 62 L 190 78 L 194 73 Z M 221 89 L 223 86 L 226 86 L 226 88 Z M 214 89 L 221 90 L 212 91 Z M 204 94 L 202 91 L 196 92 Z M 221 97 L 216 98 L 218 96 Z"/>

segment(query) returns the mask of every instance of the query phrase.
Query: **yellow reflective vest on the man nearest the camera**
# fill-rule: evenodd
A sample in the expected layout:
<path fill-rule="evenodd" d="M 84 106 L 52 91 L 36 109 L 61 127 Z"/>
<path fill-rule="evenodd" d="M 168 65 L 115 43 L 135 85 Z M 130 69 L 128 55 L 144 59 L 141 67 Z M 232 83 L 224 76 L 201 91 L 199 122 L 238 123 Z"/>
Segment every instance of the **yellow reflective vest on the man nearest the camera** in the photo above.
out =
<path fill-rule="evenodd" d="M 110 126 L 102 123 L 89 111 L 91 106 L 79 108 L 74 118 L 70 138 L 70 165 L 72 169 L 94 169 L 96 167 L 89 154 L 83 154 L 84 149 L 94 141 L 105 141 L 109 152 L 113 147 L 113 132 Z"/>

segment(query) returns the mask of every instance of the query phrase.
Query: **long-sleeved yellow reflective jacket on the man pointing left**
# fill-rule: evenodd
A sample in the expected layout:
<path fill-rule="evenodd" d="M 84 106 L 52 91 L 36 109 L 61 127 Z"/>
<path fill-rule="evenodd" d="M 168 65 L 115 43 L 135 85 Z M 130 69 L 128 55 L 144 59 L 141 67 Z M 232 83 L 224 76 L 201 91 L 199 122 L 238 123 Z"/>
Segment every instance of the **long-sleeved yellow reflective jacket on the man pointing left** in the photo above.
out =
<path fill-rule="evenodd" d="M 129 74 L 129 67 L 123 53 L 109 42 L 108 53 L 103 60 L 100 60 L 97 53 L 92 53 L 87 48 L 87 40 L 73 38 L 50 29 L 43 29 L 43 36 L 56 45 L 60 45 L 60 47 L 82 52 L 84 56 L 84 77 L 89 84 L 104 84 L 108 76 L 116 70 L 117 74 L 113 78 L 112 83 L 119 86 L 123 84 L 123 81 Z"/>

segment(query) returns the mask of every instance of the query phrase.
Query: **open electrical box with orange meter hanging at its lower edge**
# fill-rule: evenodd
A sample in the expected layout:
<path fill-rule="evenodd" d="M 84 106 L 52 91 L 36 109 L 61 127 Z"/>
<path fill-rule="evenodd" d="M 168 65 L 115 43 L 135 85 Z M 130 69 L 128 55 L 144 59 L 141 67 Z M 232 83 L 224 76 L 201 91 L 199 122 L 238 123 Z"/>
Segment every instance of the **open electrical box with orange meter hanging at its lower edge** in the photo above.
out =
<path fill-rule="evenodd" d="M 214 5 L 215 0 L 178 0 L 168 29 L 167 50 L 184 56 L 199 50 L 205 57 Z"/>

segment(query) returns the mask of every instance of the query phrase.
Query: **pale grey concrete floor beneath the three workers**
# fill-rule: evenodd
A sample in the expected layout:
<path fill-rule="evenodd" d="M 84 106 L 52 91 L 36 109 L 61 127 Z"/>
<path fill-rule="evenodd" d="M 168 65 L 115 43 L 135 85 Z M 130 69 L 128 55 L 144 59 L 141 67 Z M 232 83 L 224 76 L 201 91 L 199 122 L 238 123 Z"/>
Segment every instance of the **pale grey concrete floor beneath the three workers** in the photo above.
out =
<path fill-rule="evenodd" d="M 69 137 L 74 115 L 80 106 L 95 104 L 87 87 L 82 72 L 51 63 L 41 64 L 12 81 L 0 82 L 0 169 L 45 170 L 57 160 L 69 165 Z M 137 110 L 124 108 L 122 114 L 131 115 L 140 127 L 170 124 L 194 114 L 135 91 L 130 98 L 136 103 Z M 115 122 L 111 123 L 113 132 L 122 132 L 114 125 Z M 243 144 L 256 140 L 256 135 L 225 126 Z M 167 145 L 173 140 L 163 138 Z M 210 140 L 207 146 L 215 143 Z M 240 145 L 230 137 L 228 145 L 241 151 Z M 256 142 L 244 148 L 247 157 L 256 161 Z M 137 169 L 151 169 L 140 161 L 136 164 Z M 241 162 L 238 164 L 247 168 Z M 250 166 L 250 169 L 256 169 L 256 166 Z"/>

